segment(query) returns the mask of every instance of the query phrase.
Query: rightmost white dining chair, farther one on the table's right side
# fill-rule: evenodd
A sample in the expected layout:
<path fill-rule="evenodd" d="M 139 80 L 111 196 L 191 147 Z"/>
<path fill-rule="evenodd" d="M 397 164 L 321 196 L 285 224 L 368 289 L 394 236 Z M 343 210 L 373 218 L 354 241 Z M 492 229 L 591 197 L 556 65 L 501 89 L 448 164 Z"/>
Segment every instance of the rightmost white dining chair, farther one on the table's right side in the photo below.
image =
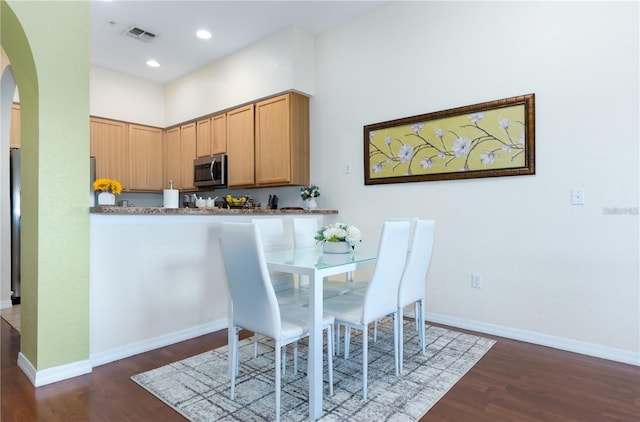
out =
<path fill-rule="evenodd" d="M 398 372 L 403 367 L 403 310 L 405 306 L 414 305 L 413 312 L 418 330 L 418 344 L 425 354 L 425 280 L 435 236 L 436 223 L 433 220 L 413 220 L 413 229 L 409 243 L 407 262 L 402 272 L 398 288 Z"/>

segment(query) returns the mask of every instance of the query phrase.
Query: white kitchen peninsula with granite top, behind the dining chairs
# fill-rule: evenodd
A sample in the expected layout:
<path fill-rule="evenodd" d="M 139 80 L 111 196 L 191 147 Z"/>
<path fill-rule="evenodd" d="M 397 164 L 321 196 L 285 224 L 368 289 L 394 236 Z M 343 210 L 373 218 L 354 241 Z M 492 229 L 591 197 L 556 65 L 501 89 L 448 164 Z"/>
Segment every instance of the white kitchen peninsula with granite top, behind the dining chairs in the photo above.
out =
<path fill-rule="evenodd" d="M 92 366 L 227 327 L 221 222 L 294 217 L 332 222 L 336 210 L 90 208 Z M 292 241 L 291 241 L 292 242 Z M 291 244 L 291 246 L 293 246 Z"/>

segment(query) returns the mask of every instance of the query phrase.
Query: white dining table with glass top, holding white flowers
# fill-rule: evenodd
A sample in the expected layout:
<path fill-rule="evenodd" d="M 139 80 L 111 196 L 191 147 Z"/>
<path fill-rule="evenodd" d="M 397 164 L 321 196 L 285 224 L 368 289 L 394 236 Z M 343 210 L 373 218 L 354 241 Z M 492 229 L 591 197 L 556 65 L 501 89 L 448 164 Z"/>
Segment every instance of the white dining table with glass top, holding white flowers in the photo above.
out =
<path fill-rule="evenodd" d="M 322 281 L 375 265 L 376 245 L 359 244 L 346 254 L 324 253 L 321 246 L 266 252 L 270 271 L 309 277 L 309 417 L 322 417 Z M 332 353 L 332 351 L 329 351 Z"/>

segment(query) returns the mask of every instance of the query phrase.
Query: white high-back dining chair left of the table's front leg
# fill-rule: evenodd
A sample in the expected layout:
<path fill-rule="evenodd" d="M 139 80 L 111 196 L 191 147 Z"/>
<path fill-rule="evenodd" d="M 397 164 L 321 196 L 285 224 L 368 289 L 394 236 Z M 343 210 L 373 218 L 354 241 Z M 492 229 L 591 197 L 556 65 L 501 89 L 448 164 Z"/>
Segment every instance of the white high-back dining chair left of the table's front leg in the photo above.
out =
<path fill-rule="evenodd" d="M 269 276 L 258 228 L 253 223 L 222 223 L 220 244 L 227 284 L 231 297 L 229 345 L 231 399 L 235 400 L 238 365 L 238 332 L 241 329 L 268 336 L 275 341 L 276 421 L 280 420 L 281 349 L 309 335 L 308 309 L 296 305 L 279 305 Z M 327 332 L 329 393 L 333 394 L 333 361 L 331 327 L 333 316 L 325 316 Z"/>

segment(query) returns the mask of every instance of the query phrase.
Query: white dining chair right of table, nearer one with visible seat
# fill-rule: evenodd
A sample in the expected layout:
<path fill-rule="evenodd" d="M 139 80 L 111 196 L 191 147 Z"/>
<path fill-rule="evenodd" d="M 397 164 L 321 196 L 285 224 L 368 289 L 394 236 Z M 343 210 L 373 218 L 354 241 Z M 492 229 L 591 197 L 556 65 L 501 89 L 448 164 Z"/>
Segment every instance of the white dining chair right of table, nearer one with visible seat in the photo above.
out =
<path fill-rule="evenodd" d="M 363 399 L 367 399 L 368 368 L 368 328 L 369 324 L 387 315 L 392 315 L 394 327 L 398 315 L 398 287 L 407 258 L 411 225 L 408 221 L 386 221 L 378 246 L 376 264 L 367 286 L 360 295 L 340 295 L 324 301 L 324 309 L 335 315 L 336 324 L 343 325 L 345 331 L 345 359 L 351 328 L 362 331 L 362 382 Z M 394 329 L 394 356 L 396 375 L 398 371 L 398 333 Z"/>

